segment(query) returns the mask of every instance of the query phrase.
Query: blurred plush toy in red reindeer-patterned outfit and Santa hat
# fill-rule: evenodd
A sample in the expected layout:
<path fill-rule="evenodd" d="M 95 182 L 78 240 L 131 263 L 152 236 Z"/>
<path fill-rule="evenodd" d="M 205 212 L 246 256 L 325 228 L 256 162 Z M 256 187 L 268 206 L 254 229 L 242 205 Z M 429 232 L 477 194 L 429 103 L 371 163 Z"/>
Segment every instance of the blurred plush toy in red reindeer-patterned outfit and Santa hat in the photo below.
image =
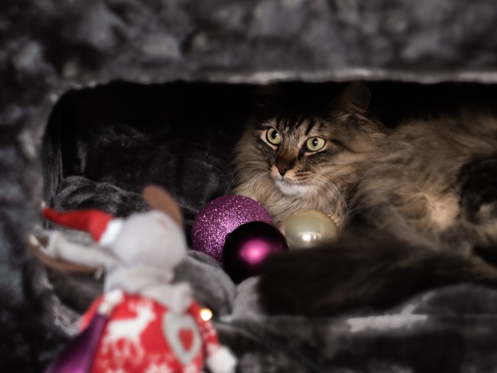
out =
<path fill-rule="evenodd" d="M 83 315 L 82 332 L 53 361 L 50 373 L 213 373 L 235 371 L 236 359 L 200 315 L 188 283 L 171 284 L 186 256 L 181 213 L 159 187 L 144 196 L 155 208 L 128 218 L 98 210 L 58 212 L 48 220 L 89 232 L 90 247 L 50 231 L 43 256 L 100 268 L 104 293 Z"/>

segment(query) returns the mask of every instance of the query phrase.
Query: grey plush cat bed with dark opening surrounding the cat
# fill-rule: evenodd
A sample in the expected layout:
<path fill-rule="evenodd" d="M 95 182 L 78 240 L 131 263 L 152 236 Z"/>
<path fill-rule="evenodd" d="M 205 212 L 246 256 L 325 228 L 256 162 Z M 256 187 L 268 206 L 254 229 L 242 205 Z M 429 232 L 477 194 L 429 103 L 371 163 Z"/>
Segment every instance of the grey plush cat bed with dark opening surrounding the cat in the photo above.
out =
<path fill-rule="evenodd" d="M 148 208 L 139 191 L 156 183 L 177 199 L 188 236 L 198 210 L 232 187 L 231 148 L 254 84 L 452 81 L 441 92 L 485 96 L 495 87 L 474 82 L 497 82 L 496 10 L 485 0 L 47 0 L 0 7 L 2 372 L 41 372 L 101 292 L 92 276 L 47 271 L 28 252 L 41 200 L 126 216 Z M 133 84 L 110 83 L 124 79 Z M 440 99 L 439 87 L 378 85 L 394 103 L 376 104 L 395 122 L 399 105 L 428 92 Z M 381 311 L 306 318 L 266 314 L 255 279 L 235 285 L 201 253 L 190 252 L 177 278 L 189 280 L 197 300 L 214 310 L 240 372 L 497 366 L 493 289 L 458 284 Z"/>

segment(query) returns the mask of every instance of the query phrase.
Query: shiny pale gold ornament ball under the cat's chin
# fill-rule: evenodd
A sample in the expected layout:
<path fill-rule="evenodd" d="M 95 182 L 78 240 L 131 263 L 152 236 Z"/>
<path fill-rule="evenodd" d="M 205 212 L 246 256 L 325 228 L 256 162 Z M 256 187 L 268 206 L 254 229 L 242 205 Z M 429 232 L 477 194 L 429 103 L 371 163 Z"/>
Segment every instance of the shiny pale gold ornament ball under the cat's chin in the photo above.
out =
<path fill-rule="evenodd" d="M 316 247 L 336 240 L 338 230 L 331 218 L 314 209 L 299 210 L 288 215 L 280 226 L 290 250 Z"/>

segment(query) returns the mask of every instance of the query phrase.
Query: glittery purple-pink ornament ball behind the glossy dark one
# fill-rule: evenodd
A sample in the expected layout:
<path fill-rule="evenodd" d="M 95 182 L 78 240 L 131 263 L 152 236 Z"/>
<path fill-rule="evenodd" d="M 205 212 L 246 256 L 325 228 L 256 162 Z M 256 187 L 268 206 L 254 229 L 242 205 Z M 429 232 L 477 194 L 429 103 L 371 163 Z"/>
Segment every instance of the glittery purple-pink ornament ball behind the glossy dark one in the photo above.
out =
<path fill-rule="evenodd" d="M 251 221 L 273 224 L 271 216 L 257 201 L 244 195 L 223 195 L 207 203 L 193 221 L 193 250 L 210 255 L 220 264 L 226 235 Z"/>

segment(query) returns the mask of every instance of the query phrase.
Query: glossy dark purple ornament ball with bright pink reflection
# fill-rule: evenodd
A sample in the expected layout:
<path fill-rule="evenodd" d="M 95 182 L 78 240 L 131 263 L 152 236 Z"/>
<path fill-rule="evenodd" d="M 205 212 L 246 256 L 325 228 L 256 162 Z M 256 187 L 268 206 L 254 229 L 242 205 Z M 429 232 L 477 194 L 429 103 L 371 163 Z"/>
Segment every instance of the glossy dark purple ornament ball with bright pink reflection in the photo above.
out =
<path fill-rule="evenodd" d="M 261 274 L 264 261 L 288 250 L 281 232 L 271 224 L 253 221 L 241 225 L 226 237 L 223 267 L 235 283 Z"/>

